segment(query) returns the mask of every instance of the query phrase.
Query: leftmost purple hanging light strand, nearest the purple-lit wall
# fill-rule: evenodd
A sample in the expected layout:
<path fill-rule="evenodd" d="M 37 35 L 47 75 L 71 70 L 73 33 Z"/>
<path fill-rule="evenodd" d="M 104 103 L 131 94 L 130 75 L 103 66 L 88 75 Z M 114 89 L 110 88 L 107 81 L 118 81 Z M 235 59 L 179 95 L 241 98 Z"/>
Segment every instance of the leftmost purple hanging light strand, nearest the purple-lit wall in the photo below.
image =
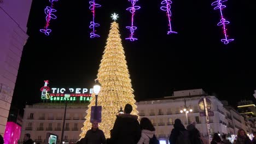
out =
<path fill-rule="evenodd" d="M 54 12 L 57 11 L 56 9 L 53 8 L 54 7 L 54 1 L 57 2 L 58 0 L 49 0 L 49 2 L 51 3 L 51 6 L 46 7 L 44 9 L 44 13 L 46 14 L 46 17 L 45 17 L 46 23 L 45 23 L 44 28 L 40 29 L 40 32 L 44 33 L 45 35 L 49 35 L 50 32 L 51 32 L 51 29 L 48 28 L 49 25 L 50 25 L 50 20 L 57 18 L 57 16 L 53 14 Z"/>

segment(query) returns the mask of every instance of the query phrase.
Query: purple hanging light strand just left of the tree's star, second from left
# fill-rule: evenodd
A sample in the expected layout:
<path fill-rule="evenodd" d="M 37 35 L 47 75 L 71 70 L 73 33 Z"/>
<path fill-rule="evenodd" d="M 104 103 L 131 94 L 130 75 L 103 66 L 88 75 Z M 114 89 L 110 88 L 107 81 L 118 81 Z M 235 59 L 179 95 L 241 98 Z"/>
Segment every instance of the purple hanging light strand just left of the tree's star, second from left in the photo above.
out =
<path fill-rule="evenodd" d="M 100 35 L 95 34 L 95 32 L 96 32 L 95 27 L 100 26 L 100 24 L 95 23 L 94 19 L 95 19 L 95 8 L 101 7 L 101 5 L 95 3 L 94 0 L 91 0 L 89 3 L 90 3 L 89 9 L 92 12 L 92 21 L 90 22 L 90 26 L 89 26 L 89 28 L 92 29 L 92 32 L 90 33 L 90 38 L 95 38 L 95 37 L 98 38 L 98 37 L 100 37 Z"/>

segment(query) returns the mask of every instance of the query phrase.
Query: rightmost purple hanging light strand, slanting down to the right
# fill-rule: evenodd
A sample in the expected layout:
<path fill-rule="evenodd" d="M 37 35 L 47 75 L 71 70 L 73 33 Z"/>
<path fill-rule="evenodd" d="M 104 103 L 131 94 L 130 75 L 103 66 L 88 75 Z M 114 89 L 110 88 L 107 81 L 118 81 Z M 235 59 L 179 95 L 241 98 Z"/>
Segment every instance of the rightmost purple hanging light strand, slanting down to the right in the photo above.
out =
<path fill-rule="evenodd" d="M 214 7 L 213 9 L 219 9 L 220 12 L 220 22 L 218 22 L 217 26 L 222 26 L 222 30 L 223 30 L 223 34 L 225 36 L 224 39 L 221 39 L 220 41 L 222 41 L 224 44 L 228 44 L 230 41 L 233 41 L 234 39 L 228 39 L 228 35 L 226 34 L 226 25 L 229 24 L 229 21 L 226 21 L 226 19 L 224 19 L 223 14 L 222 14 L 222 9 L 226 8 L 226 5 L 223 5 L 222 2 L 226 2 L 228 0 L 217 0 L 215 2 L 212 3 L 212 5 L 216 5 L 216 7 Z"/>

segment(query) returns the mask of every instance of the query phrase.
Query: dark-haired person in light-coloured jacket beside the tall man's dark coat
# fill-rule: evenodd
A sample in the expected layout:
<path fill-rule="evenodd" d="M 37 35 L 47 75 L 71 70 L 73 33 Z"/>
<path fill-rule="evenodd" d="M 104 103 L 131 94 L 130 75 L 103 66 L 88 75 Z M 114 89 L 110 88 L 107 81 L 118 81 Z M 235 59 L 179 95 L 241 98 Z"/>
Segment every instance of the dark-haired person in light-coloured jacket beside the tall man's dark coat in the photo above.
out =
<path fill-rule="evenodd" d="M 147 118 L 143 117 L 141 118 L 141 121 L 139 123 L 141 126 L 141 139 L 139 139 L 137 144 L 148 144 L 149 140 L 154 136 L 155 134 L 155 128 L 152 122 Z"/>

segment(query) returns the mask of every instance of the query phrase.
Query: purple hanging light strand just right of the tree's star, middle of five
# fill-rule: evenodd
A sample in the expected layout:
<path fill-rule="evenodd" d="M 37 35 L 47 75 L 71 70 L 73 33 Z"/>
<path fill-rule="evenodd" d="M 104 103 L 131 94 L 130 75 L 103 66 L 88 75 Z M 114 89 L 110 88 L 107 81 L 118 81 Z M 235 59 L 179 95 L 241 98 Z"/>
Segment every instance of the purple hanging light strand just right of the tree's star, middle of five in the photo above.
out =
<path fill-rule="evenodd" d="M 137 38 L 133 38 L 133 33 L 134 33 L 135 29 L 137 29 L 136 26 L 133 26 L 133 17 L 134 17 L 134 15 L 135 15 L 135 11 L 136 11 L 137 9 L 140 9 L 141 7 L 135 6 L 135 4 L 136 4 L 136 2 L 137 2 L 138 0 L 128 0 L 128 1 L 131 2 L 132 7 L 129 7 L 129 8 L 127 8 L 126 10 L 129 10 L 129 11 L 131 12 L 132 17 L 131 17 L 131 26 L 126 26 L 126 28 L 127 28 L 127 29 L 130 29 L 131 34 L 130 34 L 130 37 L 129 37 L 129 38 L 125 38 L 125 39 L 129 39 L 130 41 L 135 41 L 135 40 L 138 40 L 138 39 L 137 39 Z"/>

